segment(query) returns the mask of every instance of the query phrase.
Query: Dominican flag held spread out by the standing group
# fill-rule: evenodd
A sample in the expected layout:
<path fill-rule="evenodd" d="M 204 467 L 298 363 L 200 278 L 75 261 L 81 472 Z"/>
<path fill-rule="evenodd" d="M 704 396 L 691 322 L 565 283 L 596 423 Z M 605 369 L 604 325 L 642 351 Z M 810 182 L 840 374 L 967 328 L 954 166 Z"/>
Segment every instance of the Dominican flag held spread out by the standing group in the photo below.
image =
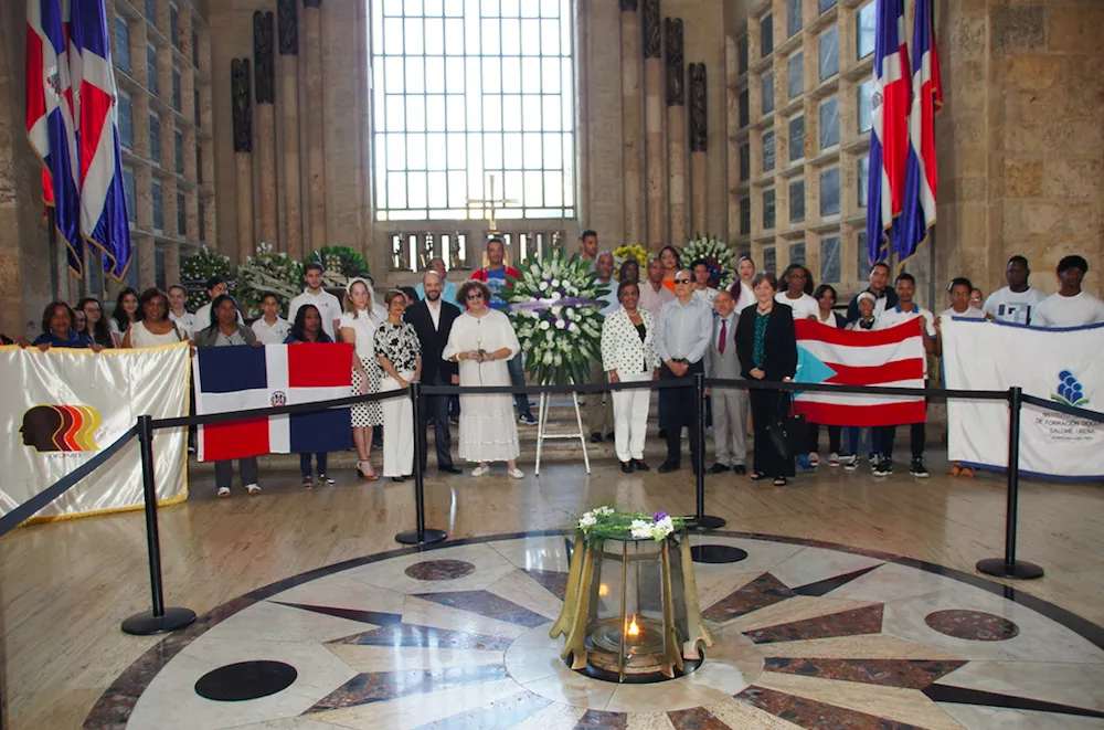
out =
<path fill-rule="evenodd" d="M 352 346 L 210 347 L 195 352 L 195 412 L 226 413 L 348 398 Z M 349 409 L 201 425 L 201 462 L 350 448 Z"/>

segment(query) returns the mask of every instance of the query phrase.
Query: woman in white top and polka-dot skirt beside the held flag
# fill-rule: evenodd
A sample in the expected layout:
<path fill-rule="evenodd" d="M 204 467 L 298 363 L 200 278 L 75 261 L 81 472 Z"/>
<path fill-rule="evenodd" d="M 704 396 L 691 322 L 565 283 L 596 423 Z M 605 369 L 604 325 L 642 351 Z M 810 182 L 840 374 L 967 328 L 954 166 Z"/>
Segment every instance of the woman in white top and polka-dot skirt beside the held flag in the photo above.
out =
<path fill-rule="evenodd" d="M 341 315 L 341 341 L 353 346 L 352 394 L 361 395 L 380 392 L 380 363 L 375 359 L 375 330 L 380 319 L 373 311 L 372 287 L 358 277 L 346 287 L 344 314 Z M 383 425 L 383 408 L 380 401 L 354 403 L 352 416 L 352 440 L 357 444 L 357 468 L 369 482 L 380 475 L 372 468 L 372 429 Z"/>

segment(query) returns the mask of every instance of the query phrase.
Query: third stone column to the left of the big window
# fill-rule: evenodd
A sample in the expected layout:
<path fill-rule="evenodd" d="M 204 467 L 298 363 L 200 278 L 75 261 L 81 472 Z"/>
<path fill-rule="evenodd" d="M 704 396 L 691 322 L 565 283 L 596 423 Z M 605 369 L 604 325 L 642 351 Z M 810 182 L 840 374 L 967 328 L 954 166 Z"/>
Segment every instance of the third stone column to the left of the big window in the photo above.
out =
<path fill-rule="evenodd" d="M 261 241 L 279 247 L 276 229 L 276 96 L 273 68 L 273 14 L 253 13 L 253 67 L 257 95 L 258 159 L 261 182 Z"/>

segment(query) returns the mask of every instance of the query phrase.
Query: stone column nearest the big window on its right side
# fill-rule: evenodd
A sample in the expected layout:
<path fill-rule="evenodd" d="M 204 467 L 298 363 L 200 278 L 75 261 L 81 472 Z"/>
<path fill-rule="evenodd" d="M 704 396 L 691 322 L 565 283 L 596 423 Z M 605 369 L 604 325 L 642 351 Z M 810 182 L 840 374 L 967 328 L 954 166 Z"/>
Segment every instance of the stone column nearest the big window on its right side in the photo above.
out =
<path fill-rule="evenodd" d="M 625 243 L 644 245 L 640 213 L 640 17 L 638 0 L 620 0 L 622 134 L 625 138 Z"/>

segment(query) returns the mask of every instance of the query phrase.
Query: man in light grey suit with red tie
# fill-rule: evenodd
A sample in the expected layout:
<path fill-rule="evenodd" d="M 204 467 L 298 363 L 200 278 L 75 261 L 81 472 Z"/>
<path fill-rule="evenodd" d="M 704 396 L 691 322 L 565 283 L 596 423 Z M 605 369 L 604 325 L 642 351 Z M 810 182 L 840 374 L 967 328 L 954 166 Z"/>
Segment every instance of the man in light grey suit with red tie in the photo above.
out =
<path fill-rule="evenodd" d="M 718 292 L 713 309 L 716 317 L 713 318 L 713 337 L 705 348 L 705 377 L 739 380 L 737 317 L 732 295 L 723 289 Z M 712 388 L 710 399 L 713 404 L 713 453 L 716 463 L 709 472 L 720 474 L 731 468 L 736 474 L 746 474 L 747 392 L 739 388 Z"/>

